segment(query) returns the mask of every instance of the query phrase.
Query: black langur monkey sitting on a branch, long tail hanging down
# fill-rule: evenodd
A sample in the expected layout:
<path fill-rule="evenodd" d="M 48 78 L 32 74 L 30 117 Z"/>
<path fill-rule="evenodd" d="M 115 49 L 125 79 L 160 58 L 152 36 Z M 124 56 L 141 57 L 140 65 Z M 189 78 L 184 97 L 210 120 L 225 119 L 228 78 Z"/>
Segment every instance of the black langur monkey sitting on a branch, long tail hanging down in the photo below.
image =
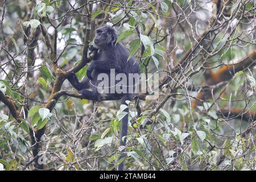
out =
<path fill-rule="evenodd" d="M 117 38 L 118 35 L 113 27 L 103 26 L 97 28 L 94 43 L 92 47 L 90 47 L 91 52 L 97 50 L 97 53 L 92 57 L 92 63 L 86 71 L 87 77 L 85 77 L 81 82 L 79 82 L 75 73 L 72 73 L 68 77 L 68 80 L 72 86 L 79 90 L 79 93 L 81 93 L 85 99 L 97 101 L 99 97 L 112 96 L 114 98 L 113 100 L 121 100 L 121 104 L 125 104 L 126 106 L 126 100 L 133 100 L 135 94 L 129 93 L 129 86 L 131 85 L 129 85 L 128 78 L 129 73 L 137 73 L 137 76 L 139 75 L 139 66 L 136 63 L 134 57 L 131 57 L 131 59 L 127 60 L 129 57 L 129 51 L 124 46 L 122 46 L 122 44 L 116 43 Z M 111 88 L 113 88 L 113 80 L 110 80 L 110 69 L 114 69 L 114 76 L 116 76 L 118 73 L 126 76 L 127 80 L 125 84 L 123 84 L 124 87 L 121 86 L 121 89 L 125 90 L 125 92 L 111 92 Z M 100 93 L 98 91 L 97 86 L 102 81 L 101 79 L 99 80 L 98 76 L 101 73 L 105 73 L 105 75 L 109 77 L 108 82 L 110 87 L 105 88 L 108 90 L 108 93 Z M 119 79 L 121 80 L 121 78 Z M 117 88 L 118 82 L 119 80 L 115 79 L 114 88 Z M 133 89 L 135 89 L 135 85 L 138 84 L 138 82 L 139 80 L 137 78 L 133 78 Z M 102 88 L 102 86 L 99 87 Z M 127 135 L 127 123 L 129 116 L 128 107 L 124 111 L 127 112 L 127 114 L 122 118 L 120 140 L 121 146 L 125 146 L 126 144 L 126 138 L 123 139 L 123 137 Z M 123 155 L 121 158 L 123 158 Z M 123 170 L 123 162 L 119 164 L 118 170 Z"/>

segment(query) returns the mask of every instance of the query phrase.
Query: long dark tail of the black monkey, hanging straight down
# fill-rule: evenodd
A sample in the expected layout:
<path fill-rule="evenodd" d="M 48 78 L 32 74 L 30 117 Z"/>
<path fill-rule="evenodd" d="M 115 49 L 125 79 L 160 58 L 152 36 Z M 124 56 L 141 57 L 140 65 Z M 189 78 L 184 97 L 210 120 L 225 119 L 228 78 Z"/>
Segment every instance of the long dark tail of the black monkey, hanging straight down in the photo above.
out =
<path fill-rule="evenodd" d="M 125 102 L 126 100 L 129 100 L 129 98 L 128 97 L 122 98 L 121 104 L 124 104 L 124 105 L 128 106 Z M 122 118 L 120 146 L 125 146 L 126 145 L 126 138 L 123 138 L 123 137 L 127 135 L 129 108 L 127 107 L 123 111 L 125 111 L 127 114 L 125 115 L 125 117 Z M 119 157 L 118 161 L 125 157 L 125 154 L 124 154 L 125 149 L 123 149 L 121 152 L 122 152 L 122 156 Z M 123 163 L 124 163 L 124 161 L 119 164 L 118 171 L 123 171 Z"/>

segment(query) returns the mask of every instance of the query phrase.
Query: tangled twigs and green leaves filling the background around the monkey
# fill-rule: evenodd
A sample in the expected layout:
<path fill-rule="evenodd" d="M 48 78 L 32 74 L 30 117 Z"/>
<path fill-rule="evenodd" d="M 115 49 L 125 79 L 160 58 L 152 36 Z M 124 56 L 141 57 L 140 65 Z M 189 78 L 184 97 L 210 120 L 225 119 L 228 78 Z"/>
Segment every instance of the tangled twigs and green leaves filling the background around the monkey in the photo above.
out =
<path fill-rule="evenodd" d="M 51 105 L 55 62 L 64 72 L 80 64 L 109 24 L 143 73 L 159 73 L 159 97 L 141 112 L 130 103 L 125 169 L 255 170 L 255 10 L 251 0 L 1 0 L 0 169 L 34 169 L 31 138 L 44 128 L 45 168 L 117 167 L 118 101 Z M 61 89 L 72 87 L 63 79 Z"/>

